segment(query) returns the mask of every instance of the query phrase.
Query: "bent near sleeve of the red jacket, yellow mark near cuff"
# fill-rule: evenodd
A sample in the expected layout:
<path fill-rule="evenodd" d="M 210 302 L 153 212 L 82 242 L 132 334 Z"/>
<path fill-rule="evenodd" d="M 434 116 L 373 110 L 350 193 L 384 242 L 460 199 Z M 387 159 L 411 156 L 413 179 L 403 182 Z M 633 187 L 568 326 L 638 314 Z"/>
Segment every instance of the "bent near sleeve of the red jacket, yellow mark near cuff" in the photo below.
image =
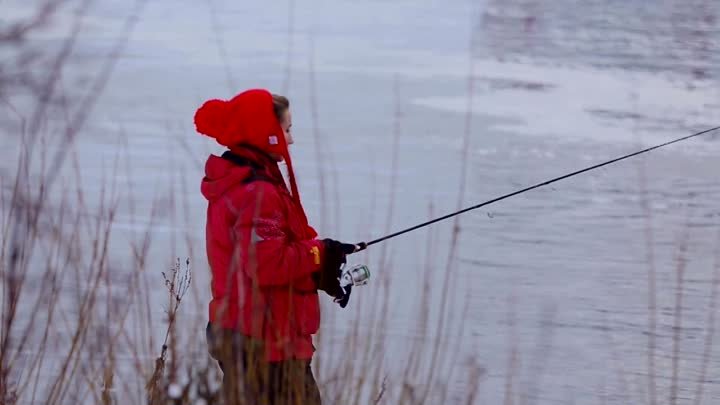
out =
<path fill-rule="evenodd" d="M 309 276 L 320 268 L 322 242 L 290 239 L 282 196 L 274 186 L 256 182 L 248 191 L 233 227 L 243 271 L 259 287 L 307 289 Z"/>

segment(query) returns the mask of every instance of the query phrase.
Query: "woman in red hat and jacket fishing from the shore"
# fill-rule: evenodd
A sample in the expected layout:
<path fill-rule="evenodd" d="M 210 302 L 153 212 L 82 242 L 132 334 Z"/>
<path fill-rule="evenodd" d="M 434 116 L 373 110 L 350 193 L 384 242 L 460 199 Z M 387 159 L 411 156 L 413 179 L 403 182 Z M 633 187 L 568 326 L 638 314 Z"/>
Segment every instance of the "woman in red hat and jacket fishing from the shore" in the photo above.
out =
<path fill-rule="evenodd" d="M 195 113 L 227 148 L 205 164 L 212 299 L 206 335 L 227 404 L 320 404 L 310 367 L 319 291 L 347 305 L 340 273 L 352 244 L 318 239 L 298 193 L 287 98 L 250 89 Z M 289 187 L 278 163 L 287 165 Z"/>

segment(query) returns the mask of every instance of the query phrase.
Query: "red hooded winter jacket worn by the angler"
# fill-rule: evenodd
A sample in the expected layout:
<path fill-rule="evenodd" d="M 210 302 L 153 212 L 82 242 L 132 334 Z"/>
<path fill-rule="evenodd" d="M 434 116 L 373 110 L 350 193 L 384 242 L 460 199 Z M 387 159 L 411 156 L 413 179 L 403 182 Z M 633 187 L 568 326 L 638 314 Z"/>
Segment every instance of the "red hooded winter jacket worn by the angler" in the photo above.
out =
<path fill-rule="evenodd" d="M 319 270 L 323 245 L 277 163 L 252 148 L 233 154 L 255 169 L 211 155 L 201 187 L 208 200 L 210 322 L 262 339 L 268 361 L 310 359 L 311 335 L 320 326 L 311 274 Z"/>

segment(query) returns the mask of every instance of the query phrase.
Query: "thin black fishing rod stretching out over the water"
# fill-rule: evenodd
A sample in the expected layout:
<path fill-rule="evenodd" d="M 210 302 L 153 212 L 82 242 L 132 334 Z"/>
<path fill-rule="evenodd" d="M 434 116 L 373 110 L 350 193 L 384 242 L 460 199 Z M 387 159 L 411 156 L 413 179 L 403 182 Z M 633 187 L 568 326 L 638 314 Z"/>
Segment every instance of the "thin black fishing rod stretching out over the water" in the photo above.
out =
<path fill-rule="evenodd" d="M 526 187 L 526 188 L 524 188 L 524 189 L 522 189 L 522 190 L 517 190 L 517 191 L 514 191 L 514 192 L 512 192 L 512 193 L 508 193 L 508 194 L 502 195 L 502 196 L 500 196 L 500 197 L 493 198 L 492 200 L 488 200 L 488 201 L 482 202 L 482 203 L 480 203 L 480 204 L 477 204 L 477 205 L 473 205 L 473 206 L 471 206 L 471 207 L 464 208 L 464 209 L 462 209 L 462 210 L 460 210 L 460 211 L 456 211 L 456 212 L 453 212 L 453 213 L 444 215 L 444 216 L 442 216 L 442 217 L 435 218 L 435 219 L 430 220 L 430 221 L 427 221 L 427 222 L 423 222 L 423 223 L 418 224 L 418 225 L 415 225 L 415 226 L 413 226 L 413 227 L 410 227 L 410 228 L 407 228 L 407 229 L 403 229 L 403 230 L 398 231 L 398 232 L 395 232 L 395 233 L 391 233 L 391 234 L 386 235 L 386 236 L 383 236 L 383 237 L 381 237 L 381 238 L 377 238 L 377 239 L 375 239 L 375 240 L 371 240 L 370 242 L 360 242 L 360 243 L 357 243 L 357 244 L 355 245 L 355 252 L 359 252 L 359 251 L 361 251 L 361 250 L 365 250 L 365 249 L 367 249 L 369 246 L 372 246 L 372 245 L 374 245 L 374 244 L 376 244 L 376 243 L 380 243 L 380 242 L 386 241 L 386 240 L 388 240 L 388 239 L 392 239 L 392 238 L 394 238 L 394 237 L 397 237 L 397 236 L 406 234 L 406 233 L 408 233 L 408 232 L 412 232 L 412 231 L 414 231 L 414 230 L 416 230 L 416 229 L 420 229 L 420 228 L 426 227 L 426 226 L 428 226 L 428 225 L 431 225 L 431 224 L 434 224 L 434 223 L 436 223 L 436 222 L 440 222 L 440 221 L 446 220 L 446 219 L 448 219 L 448 218 L 452 218 L 452 217 L 454 217 L 454 216 L 456 216 L 456 215 L 460 215 L 460 214 L 465 213 L 465 212 L 468 212 L 468 211 L 476 210 L 476 209 L 478 209 L 478 208 L 485 207 L 485 206 L 487 206 L 487 205 L 496 203 L 496 202 L 498 202 L 498 201 L 502 201 L 502 200 L 508 199 L 508 198 L 510 198 L 510 197 L 514 197 L 514 196 L 516 196 L 516 195 L 526 193 L 526 192 L 531 191 L 531 190 L 534 190 L 534 189 L 536 189 L 536 188 L 544 187 L 544 186 L 547 186 L 547 185 L 549 185 L 549 184 L 558 182 L 558 181 L 560 181 L 560 180 L 564 180 L 564 179 L 567 179 L 567 178 L 570 178 L 570 177 L 573 177 L 573 176 L 577 176 L 577 175 L 582 174 L 582 173 L 589 172 L 589 171 L 591 171 L 591 170 L 595 170 L 595 169 L 601 168 L 601 167 L 603 167 L 603 166 L 607 166 L 607 165 L 610 165 L 610 164 L 613 164 L 613 163 L 617 163 L 617 162 L 619 162 L 619 161 L 621 161 L 621 160 L 629 159 L 629 158 L 631 158 L 631 157 L 638 156 L 638 155 L 641 155 L 641 154 L 643 154 L 643 153 L 647 153 L 647 152 L 653 151 L 653 150 L 655 150 L 655 149 L 660 149 L 660 148 L 662 148 L 662 147 L 665 147 L 665 146 L 668 146 L 668 145 L 672 145 L 672 144 L 674 144 L 674 143 L 686 141 L 686 140 L 691 139 L 691 138 L 695 138 L 695 137 L 698 137 L 698 136 L 701 136 L 701 135 L 705 135 L 705 134 L 707 134 L 707 133 L 710 133 L 710 132 L 713 132 L 713 131 L 717 131 L 718 129 L 720 129 L 720 126 L 715 127 L 715 128 L 706 129 L 706 130 L 704 130 L 704 131 L 697 132 L 697 133 L 694 133 L 694 134 L 692 134 L 692 135 L 684 136 L 684 137 L 682 137 L 682 138 L 678 138 L 678 139 L 675 139 L 675 140 L 672 140 L 672 141 L 669 141 L 669 142 L 665 142 L 665 143 L 660 144 L 660 145 L 655 145 L 655 146 L 649 147 L 649 148 L 647 148 L 647 149 L 643 149 L 643 150 L 641 150 L 641 151 L 637 151 L 637 152 L 633 152 L 633 153 L 630 153 L 630 154 L 627 154 L 627 155 L 624 155 L 624 156 L 620 156 L 620 157 L 618 157 L 618 158 L 615 158 L 615 159 L 612 159 L 612 160 L 608 160 L 608 161 L 603 162 L 603 163 L 598 163 L 598 164 L 596 164 L 596 165 L 587 167 L 587 168 L 585 168 L 585 169 L 577 170 L 577 171 L 574 171 L 574 172 L 572 172 L 572 173 L 568 173 L 568 174 L 565 174 L 565 175 L 563 175 L 563 176 L 556 177 L 556 178 L 554 178 L 554 179 L 547 180 L 547 181 L 544 181 L 544 182 L 542 182 L 542 183 L 535 184 L 535 185 L 530 186 L 530 187 Z"/>

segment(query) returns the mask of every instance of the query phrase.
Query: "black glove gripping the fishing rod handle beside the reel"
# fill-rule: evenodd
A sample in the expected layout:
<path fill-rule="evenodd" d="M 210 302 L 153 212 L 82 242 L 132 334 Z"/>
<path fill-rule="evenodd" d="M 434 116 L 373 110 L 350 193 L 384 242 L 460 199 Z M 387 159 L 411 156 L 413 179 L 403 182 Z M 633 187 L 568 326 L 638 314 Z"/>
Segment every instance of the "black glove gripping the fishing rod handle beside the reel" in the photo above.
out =
<path fill-rule="evenodd" d="M 333 239 L 323 239 L 324 255 L 320 271 L 313 274 L 318 290 L 325 291 L 336 300 L 341 300 L 340 306 L 345 307 L 350 299 L 350 289 L 347 291 L 340 287 L 341 267 L 347 262 L 346 256 L 355 251 L 355 245 L 338 242 Z M 344 305 L 342 303 L 344 301 Z"/>

